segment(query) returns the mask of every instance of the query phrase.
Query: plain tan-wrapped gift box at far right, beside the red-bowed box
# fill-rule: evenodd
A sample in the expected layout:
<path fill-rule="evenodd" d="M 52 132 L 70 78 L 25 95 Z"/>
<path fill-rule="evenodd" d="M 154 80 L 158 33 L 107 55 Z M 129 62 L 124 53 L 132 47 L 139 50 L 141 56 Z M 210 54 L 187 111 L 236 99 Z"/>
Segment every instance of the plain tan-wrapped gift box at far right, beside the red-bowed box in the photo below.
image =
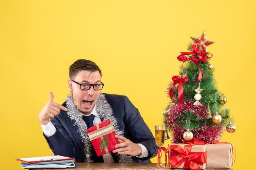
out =
<path fill-rule="evenodd" d="M 230 168 L 234 164 L 234 146 L 226 142 L 207 144 L 207 168 Z"/>

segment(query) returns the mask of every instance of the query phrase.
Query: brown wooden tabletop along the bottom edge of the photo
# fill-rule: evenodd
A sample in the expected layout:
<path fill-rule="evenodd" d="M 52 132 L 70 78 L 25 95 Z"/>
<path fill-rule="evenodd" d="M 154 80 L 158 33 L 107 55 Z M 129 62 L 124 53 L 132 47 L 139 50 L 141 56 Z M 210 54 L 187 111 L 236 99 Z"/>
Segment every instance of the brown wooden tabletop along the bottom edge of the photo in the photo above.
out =
<path fill-rule="evenodd" d="M 76 168 L 71 168 L 68 170 L 163 170 L 163 169 L 181 170 L 181 169 L 161 168 L 158 166 L 157 163 L 76 163 Z M 44 170 L 63 170 L 63 169 L 54 168 L 54 169 L 44 169 Z M 206 170 L 232 170 L 232 169 L 206 168 Z"/>

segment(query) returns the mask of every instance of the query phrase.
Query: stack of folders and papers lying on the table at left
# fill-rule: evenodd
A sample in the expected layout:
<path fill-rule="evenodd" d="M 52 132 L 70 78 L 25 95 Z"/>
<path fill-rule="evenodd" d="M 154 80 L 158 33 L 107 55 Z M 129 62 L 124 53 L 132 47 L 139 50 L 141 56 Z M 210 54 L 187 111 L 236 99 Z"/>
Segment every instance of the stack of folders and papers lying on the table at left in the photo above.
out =
<path fill-rule="evenodd" d="M 59 155 L 49 157 L 19 158 L 21 168 L 76 168 L 74 158 Z"/>

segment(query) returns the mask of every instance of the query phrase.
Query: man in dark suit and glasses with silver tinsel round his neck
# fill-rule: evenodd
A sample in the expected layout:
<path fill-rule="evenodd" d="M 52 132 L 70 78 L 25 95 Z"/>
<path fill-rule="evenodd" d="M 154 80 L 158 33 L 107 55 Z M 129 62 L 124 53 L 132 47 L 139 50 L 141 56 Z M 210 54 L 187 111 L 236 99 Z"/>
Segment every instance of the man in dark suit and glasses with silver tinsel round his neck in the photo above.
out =
<path fill-rule="evenodd" d="M 69 70 L 70 96 L 59 105 L 50 99 L 39 113 L 43 135 L 55 155 L 74 157 L 76 162 L 150 162 L 157 155 L 155 138 L 126 96 L 101 93 L 101 70 L 92 61 L 80 59 Z M 51 121 L 49 121 L 51 118 Z M 87 129 L 109 119 L 119 144 L 98 157 Z"/>

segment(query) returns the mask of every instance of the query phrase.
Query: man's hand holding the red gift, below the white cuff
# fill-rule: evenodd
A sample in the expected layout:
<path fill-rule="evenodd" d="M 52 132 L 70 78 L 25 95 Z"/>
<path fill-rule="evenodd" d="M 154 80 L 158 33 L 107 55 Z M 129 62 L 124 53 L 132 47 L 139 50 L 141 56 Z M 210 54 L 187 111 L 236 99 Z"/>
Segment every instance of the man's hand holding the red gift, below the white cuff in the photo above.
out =
<path fill-rule="evenodd" d="M 115 138 L 119 140 L 120 144 L 115 145 L 115 148 L 118 149 L 113 150 L 113 153 L 130 155 L 132 157 L 140 156 L 142 154 L 142 149 L 138 144 L 133 143 L 124 136 L 115 135 Z"/>

